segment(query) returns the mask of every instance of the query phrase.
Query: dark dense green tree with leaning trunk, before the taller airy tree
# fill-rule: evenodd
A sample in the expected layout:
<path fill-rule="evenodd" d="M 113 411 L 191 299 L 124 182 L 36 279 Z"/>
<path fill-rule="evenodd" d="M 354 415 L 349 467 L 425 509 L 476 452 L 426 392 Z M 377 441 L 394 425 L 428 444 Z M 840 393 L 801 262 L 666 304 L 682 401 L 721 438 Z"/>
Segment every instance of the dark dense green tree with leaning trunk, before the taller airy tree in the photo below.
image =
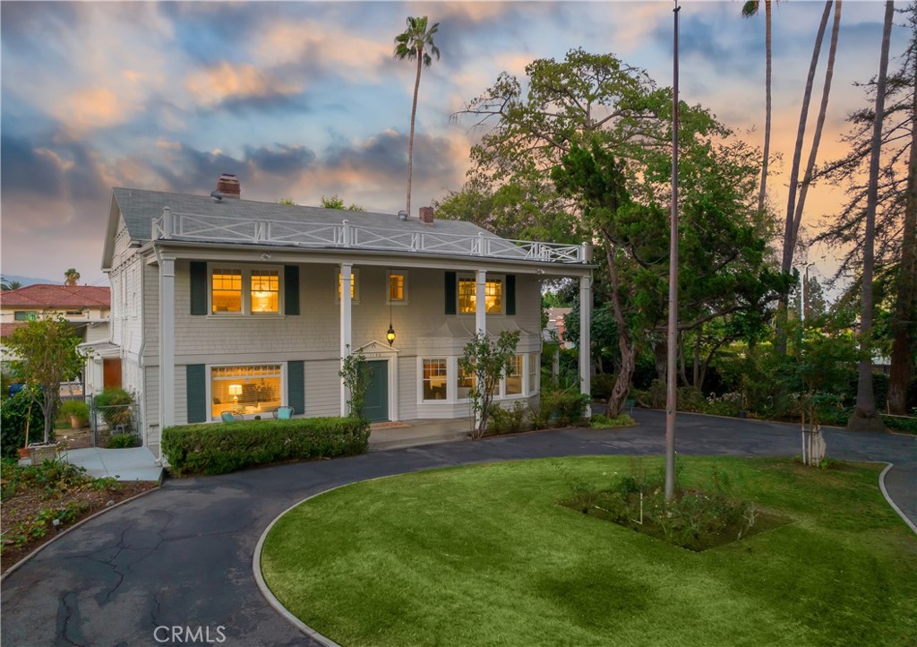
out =
<path fill-rule="evenodd" d="M 743 188 L 754 192 L 757 169 L 735 169 L 713 151 L 705 168 L 692 162 L 686 164 L 690 174 L 679 228 L 679 333 L 698 333 L 718 320 L 722 345 L 742 329 L 740 321 L 763 322 L 766 303 L 786 282 L 768 268 L 765 239 L 756 230 L 757 209 L 743 195 Z M 590 149 L 574 144 L 552 178 L 562 195 L 577 200 L 583 226 L 601 241 L 607 262 L 621 355 L 608 405 L 616 415 L 630 389 L 638 342 L 656 340 L 657 354 L 664 355 L 668 210 L 635 201 L 625 188 L 623 165 L 598 141 Z"/>

